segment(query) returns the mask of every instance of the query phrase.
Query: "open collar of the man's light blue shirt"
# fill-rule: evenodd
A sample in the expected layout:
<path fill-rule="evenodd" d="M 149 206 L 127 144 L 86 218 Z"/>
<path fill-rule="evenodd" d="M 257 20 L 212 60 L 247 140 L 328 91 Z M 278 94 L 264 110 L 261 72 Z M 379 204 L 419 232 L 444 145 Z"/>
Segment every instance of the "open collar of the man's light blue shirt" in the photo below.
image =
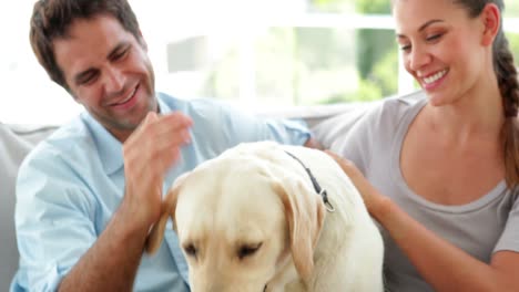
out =
<path fill-rule="evenodd" d="M 160 98 L 157 94 L 160 113 L 170 113 L 171 107 Z M 88 112 L 82 114 L 82 119 L 89 127 L 98 148 L 99 157 L 103 164 L 104 173 L 112 175 L 122 168 L 124 164 L 122 155 L 122 143 L 119 142 L 103 125 L 101 125 Z"/>

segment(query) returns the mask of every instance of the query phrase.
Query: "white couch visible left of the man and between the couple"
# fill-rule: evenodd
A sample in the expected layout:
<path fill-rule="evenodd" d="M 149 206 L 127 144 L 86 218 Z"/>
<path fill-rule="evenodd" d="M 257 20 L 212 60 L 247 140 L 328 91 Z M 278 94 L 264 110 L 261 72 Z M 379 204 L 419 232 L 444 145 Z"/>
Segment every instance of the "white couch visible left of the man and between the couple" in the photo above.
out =
<path fill-rule="evenodd" d="M 271 117 L 298 117 L 325 146 L 329 147 L 374 103 L 335 104 L 293 107 L 257 113 Z M 14 233 L 14 184 L 24 156 L 57 126 L 7 125 L 0 123 L 0 291 L 9 291 L 18 269 L 18 249 Z"/>

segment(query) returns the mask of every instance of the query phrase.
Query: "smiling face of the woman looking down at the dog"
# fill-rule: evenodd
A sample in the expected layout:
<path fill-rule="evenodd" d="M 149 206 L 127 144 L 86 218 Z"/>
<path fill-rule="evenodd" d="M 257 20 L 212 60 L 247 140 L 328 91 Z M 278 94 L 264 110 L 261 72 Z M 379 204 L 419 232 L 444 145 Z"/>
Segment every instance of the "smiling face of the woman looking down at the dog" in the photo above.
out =
<path fill-rule="evenodd" d="M 481 18 L 469 18 L 452 0 L 396 0 L 393 12 L 405 67 L 431 104 L 470 95 L 491 56 Z"/>

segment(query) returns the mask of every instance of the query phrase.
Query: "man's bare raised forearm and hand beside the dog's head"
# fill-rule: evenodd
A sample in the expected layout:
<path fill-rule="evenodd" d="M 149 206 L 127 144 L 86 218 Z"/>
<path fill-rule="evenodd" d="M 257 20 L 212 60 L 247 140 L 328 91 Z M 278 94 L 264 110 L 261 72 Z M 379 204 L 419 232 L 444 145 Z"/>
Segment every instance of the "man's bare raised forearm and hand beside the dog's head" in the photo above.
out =
<path fill-rule="evenodd" d="M 150 113 L 124 143 L 124 199 L 60 291 L 132 290 L 147 232 L 161 213 L 163 176 L 190 140 L 190 126 L 180 113 Z"/>

